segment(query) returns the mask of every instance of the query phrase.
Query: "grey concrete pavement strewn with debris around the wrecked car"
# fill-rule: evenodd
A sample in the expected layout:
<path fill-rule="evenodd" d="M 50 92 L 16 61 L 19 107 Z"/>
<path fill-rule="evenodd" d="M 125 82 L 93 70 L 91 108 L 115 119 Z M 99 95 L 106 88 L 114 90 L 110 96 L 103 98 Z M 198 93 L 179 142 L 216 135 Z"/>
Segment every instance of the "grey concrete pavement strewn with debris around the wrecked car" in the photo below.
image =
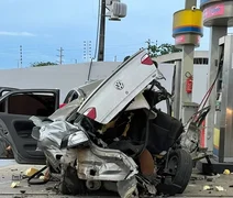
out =
<path fill-rule="evenodd" d="M 30 167 L 41 168 L 42 166 L 20 165 L 14 161 L 0 161 L 0 197 L 73 198 L 73 196 L 57 195 L 56 191 L 52 190 L 57 184 L 56 182 L 30 186 L 26 180 L 21 180 L 19 187 L 11 188 L 12 175 L 19 175 Z M 220 175 L 219 177 L 208 177 L 207 179 L 207 177 L 196 173 L 192 178 L 185 194 L 176 197 L 233 197 L 233 175 Z M 203 190 L 203 186 L 206 185 L 208 185 L 211 190 Z M 221 186 L 224 190 L 217 191 L 215 186 Z"/>

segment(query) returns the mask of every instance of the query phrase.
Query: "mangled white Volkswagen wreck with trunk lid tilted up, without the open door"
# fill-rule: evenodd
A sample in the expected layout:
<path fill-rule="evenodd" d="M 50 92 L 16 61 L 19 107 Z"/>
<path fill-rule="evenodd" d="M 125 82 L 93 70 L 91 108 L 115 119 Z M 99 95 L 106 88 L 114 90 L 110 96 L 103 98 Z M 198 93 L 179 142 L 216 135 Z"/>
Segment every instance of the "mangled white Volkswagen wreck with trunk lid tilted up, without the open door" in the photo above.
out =
<path fill-rule="evenodd" d="M 33 138 L 66 195 L 115 191 L 122 198 L 182 194 L 192 158 L 180 145 L 184 125 L 156 109 L 170 95 L 145 51 L 47 119 L 32 117 Z"/>

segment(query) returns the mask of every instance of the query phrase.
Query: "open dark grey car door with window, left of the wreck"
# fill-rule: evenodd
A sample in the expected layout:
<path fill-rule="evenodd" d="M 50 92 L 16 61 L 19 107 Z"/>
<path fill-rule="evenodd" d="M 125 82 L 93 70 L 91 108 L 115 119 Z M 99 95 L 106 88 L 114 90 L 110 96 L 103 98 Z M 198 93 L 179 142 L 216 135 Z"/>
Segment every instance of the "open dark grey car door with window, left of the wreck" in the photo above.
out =
<path fill-rule="evenodd" d="M 19 164 L 45 164 L 32 138 L 32 116 L 47 118 L 59 107 L 58 89 L 19 89 L 0 98 L 0 135 L 11 146 Z"/>

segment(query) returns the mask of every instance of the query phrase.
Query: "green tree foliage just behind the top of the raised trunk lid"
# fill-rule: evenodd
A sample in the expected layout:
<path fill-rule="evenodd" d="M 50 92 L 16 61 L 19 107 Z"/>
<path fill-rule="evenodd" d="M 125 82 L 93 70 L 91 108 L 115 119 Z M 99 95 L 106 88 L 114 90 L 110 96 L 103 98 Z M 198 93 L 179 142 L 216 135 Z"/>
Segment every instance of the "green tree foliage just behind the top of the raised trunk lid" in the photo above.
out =
<path fill-rule="evenodd" d="M 149 55 L 152 57 L 158 57 L 158 56 L 165 55 L 165 54 L 181 52 L 181 50 L 176 48 L 175 45 L 171 45 L 169 43 L 164 43 L 162 45 L 158 45 L 157 42 L 156 42 L 155 45 L 152 45 L 151 41 L 148 40 L 147 44 L 148 44 L 147 50 L 148 50 Z"/>

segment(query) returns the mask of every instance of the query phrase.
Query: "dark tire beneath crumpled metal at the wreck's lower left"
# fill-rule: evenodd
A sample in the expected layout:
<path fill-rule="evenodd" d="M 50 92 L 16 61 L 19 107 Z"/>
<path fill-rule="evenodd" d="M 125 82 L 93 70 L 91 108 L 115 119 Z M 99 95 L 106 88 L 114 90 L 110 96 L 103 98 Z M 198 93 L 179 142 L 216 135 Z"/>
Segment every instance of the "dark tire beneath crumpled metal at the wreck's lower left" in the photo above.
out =
<path fill-rule="evenodd" d="M 88 194 L 85 182 L 78 178 L 75 167 L 68 166 L 64 169 L 62 175 L 60 193 L 73 196 L 84 196 Z"/>

